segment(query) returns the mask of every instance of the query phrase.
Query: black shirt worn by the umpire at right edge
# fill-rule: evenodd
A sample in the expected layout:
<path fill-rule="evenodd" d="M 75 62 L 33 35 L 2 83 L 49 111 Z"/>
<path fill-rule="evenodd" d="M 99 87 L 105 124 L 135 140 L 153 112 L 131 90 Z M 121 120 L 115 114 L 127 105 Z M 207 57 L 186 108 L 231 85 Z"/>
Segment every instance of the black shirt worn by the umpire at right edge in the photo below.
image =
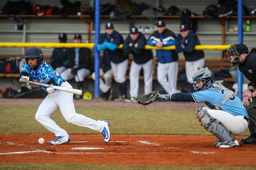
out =
<path fill-rule="evenodd" d="M 256 54 L 249 53 L 238 68 L 249 81 L 256 84 Z"/>

